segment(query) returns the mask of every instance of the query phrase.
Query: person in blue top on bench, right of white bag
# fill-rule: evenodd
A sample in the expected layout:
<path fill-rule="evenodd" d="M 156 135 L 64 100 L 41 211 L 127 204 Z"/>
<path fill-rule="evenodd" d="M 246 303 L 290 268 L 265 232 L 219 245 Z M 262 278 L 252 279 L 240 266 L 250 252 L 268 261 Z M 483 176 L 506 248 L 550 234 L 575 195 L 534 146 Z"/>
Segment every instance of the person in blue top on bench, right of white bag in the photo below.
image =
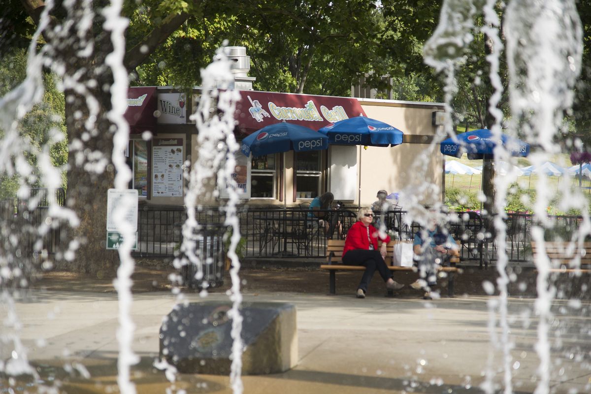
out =
<path fill-rule="evenodd" d="M 423 289 L 423 298 L 431 299 L 431 291 L 437 285 L 437 265 L 444 265 L 451 256 L 459 255 L 457 243 L 435 219 L 430 219 L 427 229 L 415 233 L 413 252 L 418 262 L 419 279 L 411 287 Z"/>

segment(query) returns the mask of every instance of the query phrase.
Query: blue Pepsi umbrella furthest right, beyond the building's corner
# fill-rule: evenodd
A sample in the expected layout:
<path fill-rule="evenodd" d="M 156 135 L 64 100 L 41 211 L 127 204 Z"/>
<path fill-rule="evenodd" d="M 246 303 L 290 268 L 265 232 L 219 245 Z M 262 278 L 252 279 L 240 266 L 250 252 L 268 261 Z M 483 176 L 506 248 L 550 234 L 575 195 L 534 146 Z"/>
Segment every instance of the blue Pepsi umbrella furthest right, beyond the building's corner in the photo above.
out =
<path fill-rule="evenodd" d="M 447 138 L 441 142 L 441 153 L 448 156 L 461 157 L 466 152 L 469 159 L 482 159 L 485 156 L 492 157 L 493 149 L 495 149 L 496 144 L 499 142 L 505 146 L 505 149 L 511 152 L 512 156 L 526 157 L 530 154 L 530 144 L 527 144 L 527 142 L 506 134 L 502 134 L 501 141 L 498 141 L 488 129 L 467 131 L 458 134 L 456 135 L 456 141 L 453 138 Z"/>

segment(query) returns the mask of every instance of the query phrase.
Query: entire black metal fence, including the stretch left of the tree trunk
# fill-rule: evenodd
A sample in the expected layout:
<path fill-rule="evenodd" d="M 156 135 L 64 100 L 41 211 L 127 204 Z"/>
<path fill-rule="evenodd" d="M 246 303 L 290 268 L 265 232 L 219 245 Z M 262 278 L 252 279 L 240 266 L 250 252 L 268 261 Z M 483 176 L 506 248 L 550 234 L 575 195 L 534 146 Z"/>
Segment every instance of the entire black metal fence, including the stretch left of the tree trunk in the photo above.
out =
<path fill-rule="evenodd" d="M 17 199 L 0 201 L 0 221 L 4 249 L 14 249 L 15 256 L 26 253 L 38 256 L 51 255 L 60 244 L 60 228 L 47 225 L 47 191 L 35 189 L 31 196 L 33 207 L 27 201 Z M 64 192 L 56 192 L 56 201 L 63 205 Z M 30 200 L 31 201 L 31 200 Z M 36 205 L 35 205 L 36 204 Z M 326 240 L 344 239 L 350 226 L 356 222 L 356 208 L 311 211 L 306 208 L 248 207 L 238 210 L 240 231 L 245 240 L 243 255 L 246 258 L 323 258 Z M 531 261 L 531 229 L 533 216 L 526 213 L 509 213 L 506 223 L 506 253 L 510 261 Z M 141 204 L 138 214 L 138 250 L 135 256 L 171 257 L 181 242 L 181 227 L 187 218 L 184 207 Z M 417 223 L 409 223 L 406 211 L 390 211 L 376 216 L 383 220 L 389 235 L 394 239 L 412 240 L 420 229 Z M 196 219 L 202 224 L 223 224 L 223 207 L 205 207 L 196 211 Z M 548 239 L 570 239 L 582 222 L 580 216 L 551 216 L 554 227 L 546 230 Z M 45 223 L 40 232 L 39 225 Z M 375 223 L 378 225 L 379 223 Z M 447 227 L 454 239 L 461 242 L 460 259 L 476 261 L 480 265 L 496 261 L 499 250 L 492 226 L 478 213 L 450 213 Z"/>

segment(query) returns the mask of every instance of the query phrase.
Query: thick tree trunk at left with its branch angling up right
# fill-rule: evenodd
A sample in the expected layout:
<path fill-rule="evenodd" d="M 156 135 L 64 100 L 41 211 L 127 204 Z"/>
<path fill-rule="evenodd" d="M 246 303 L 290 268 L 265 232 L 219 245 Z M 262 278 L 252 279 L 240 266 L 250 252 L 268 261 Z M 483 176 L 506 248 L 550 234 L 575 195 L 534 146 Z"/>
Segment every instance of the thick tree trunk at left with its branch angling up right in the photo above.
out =
<path fill-rule="evenodd" d="M 43 0 L 21 0 L 33 21 L 38 24 L 45 7 Z M 61 2 L 59 2 L 61 4 Z M 80 220 L 79 226 L 62 231 L 56 266 L 69 271 L 106 276 L 118 264 L 118 253 L 106 250 L 107 191 L 113 187 L 115 174 L 111 164 L 114 128 L 106 118 L 111 110 L 111 70 L 105 57 L 113 46 L 104 30 L 104 6 L 109 2 L 73 0 L 67 12 L 61 7 L 51 11 L 43 37 L 51 50 L 56 71 L 64 80 L 66 126 L 69 142 L 66 206 Z M 92 25 L 80 24 L 92 15 Z M 128 70 L 135 69 L 161 45 L 188 15 L 173 12 L 161 19 L 144 40 L 125 56 Z M 91 112 L 91 109 L 93 112 Z M 67 224 L 63 223 L 62 228 Z M 76 245 L 77 241 L 79 245 Z M 75 252 L 65 253 L 67 250 Z"/>

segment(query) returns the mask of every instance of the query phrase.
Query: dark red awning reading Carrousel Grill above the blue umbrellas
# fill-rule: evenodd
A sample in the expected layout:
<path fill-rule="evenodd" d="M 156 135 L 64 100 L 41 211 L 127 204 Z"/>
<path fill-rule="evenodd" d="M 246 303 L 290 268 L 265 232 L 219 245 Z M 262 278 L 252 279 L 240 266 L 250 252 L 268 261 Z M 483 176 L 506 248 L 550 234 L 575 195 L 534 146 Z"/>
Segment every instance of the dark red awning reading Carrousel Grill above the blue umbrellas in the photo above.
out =
<path fill-rule="evenodd" d="M 241 90 L 240 95 L 241 100 L 236 103 L 236 128 L 245 135 L 281 121 L 317 130 L 353 116 L 366 116 L 359 101 L 349 97 L 254 90 Z"/>

